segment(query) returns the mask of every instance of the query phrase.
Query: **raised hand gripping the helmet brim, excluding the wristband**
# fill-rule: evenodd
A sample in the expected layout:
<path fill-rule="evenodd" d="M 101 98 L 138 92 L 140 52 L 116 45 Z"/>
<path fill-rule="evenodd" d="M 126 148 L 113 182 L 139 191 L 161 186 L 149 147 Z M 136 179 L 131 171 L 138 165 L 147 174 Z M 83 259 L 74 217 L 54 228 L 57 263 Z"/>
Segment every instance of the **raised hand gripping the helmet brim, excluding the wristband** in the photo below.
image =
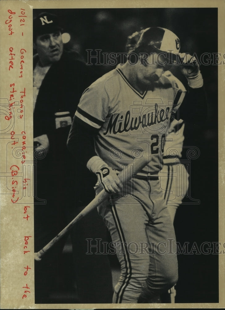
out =
<path fill-rule="evenodd" d="M 195 57 L 185 54 L 185 53 L 179 53 L 181 59 L 184 59 L 184 64 L 180 65 L 180 71 L 185 75 L 186 78 L 191 78 L 200 72 L 199 70 L 199 64 L 197 63 L 197 60 Z"/>

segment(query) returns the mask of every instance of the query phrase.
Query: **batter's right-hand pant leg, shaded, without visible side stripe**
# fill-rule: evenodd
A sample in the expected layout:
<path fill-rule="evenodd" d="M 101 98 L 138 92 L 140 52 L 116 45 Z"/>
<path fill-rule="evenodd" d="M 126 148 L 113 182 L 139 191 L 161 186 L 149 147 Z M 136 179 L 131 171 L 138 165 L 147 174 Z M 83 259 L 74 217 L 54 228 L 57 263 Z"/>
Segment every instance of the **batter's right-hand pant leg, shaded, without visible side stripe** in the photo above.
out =
<path fill-rule="evenodd" d="M 172 220 L 164 203 L 159 181 L 150 181 L 150 188 L 154 210 L 146 226 L 146 232 L 151 245 L 151 254 L 147 288 L 143 290 L 141 296 L 148 299 L 154 294 L 167 291 L 178 279 L 176 238 Z"/>

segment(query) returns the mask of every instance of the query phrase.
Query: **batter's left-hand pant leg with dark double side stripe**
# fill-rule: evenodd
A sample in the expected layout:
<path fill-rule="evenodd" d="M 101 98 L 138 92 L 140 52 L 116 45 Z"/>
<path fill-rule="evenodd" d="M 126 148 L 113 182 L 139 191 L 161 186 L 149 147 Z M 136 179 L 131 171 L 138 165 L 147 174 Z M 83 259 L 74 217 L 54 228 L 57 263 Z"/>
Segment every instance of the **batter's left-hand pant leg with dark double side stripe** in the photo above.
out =
<path fill-rule="evenodd" d="M 130 191 L 129 188 L 128 193 Z M 116 199 L 115 196 L 113 198 Z M 98 210 L 110 231 L 121 265 L 113 303 L 137 303 L 149 268 L 145 230 L 149 215 L 143 205 L 129 194 L 111 204 L 101 205 Z"/>

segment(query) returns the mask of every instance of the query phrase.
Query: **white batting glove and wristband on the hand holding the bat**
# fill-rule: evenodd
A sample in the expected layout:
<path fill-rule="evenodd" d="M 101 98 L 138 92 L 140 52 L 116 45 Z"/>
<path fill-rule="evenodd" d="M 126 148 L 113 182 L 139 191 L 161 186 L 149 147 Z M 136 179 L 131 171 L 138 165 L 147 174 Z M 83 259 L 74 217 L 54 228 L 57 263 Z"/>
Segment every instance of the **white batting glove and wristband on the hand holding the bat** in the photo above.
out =
<path fill-rule="evenodd" d="M 118 171 L 109 167 L 100 157 L 91 157 L 87 162 L 87 168 L 97 175 L 99 183 L 102 184 L 107 193 L 118 193 L 120 191 L 121 184 Z"/>

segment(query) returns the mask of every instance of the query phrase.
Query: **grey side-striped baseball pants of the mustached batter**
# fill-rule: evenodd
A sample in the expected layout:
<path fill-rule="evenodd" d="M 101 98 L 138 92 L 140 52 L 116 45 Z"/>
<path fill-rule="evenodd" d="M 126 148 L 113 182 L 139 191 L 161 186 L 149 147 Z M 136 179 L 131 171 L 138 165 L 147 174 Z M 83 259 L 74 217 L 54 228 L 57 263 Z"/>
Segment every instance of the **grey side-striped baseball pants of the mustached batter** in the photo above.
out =
<path fill-rule="evenodd" d="M 158 178 L 131 179 L 98 211 L 121 265 L 113 303 L 137 303 L 142 292 L 151 298 L 176 284 L 175 233 Z"/>

